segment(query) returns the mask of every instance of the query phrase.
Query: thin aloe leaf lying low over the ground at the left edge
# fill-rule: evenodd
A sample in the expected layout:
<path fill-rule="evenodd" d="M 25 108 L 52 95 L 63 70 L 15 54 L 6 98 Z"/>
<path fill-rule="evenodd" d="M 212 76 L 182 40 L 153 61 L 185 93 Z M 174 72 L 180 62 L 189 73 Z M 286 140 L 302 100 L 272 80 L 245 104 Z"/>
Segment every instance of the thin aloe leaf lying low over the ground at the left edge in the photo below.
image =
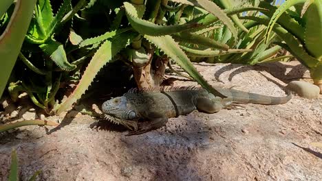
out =
<path fill-rule="evenodd" d="M 8 130 L 12 130 L 14 128 L 19 128 L 19 127 L 25 126 L 25 125 L 52 125 L 52 126 L 57 126 L 59 124 L 54 122 L 54 121 L 45 121 L 45 120 L 41 120 L 41 119 L 17 121 L 17 122 L 14 122 L 14 123 L 6 123 L 6 124 L 3 124 L 3 125 L 0 125 L 0 132 L 6 132 Z"/>

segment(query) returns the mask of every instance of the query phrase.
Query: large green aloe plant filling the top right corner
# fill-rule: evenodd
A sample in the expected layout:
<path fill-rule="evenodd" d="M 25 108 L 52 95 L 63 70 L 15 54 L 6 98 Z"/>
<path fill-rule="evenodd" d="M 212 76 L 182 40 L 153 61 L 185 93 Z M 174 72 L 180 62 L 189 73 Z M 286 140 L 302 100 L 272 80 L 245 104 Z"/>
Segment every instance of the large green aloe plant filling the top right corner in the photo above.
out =
<path fill-rule="evenodd" d="M 253 25 L 266 25 L 266 42 L 271 32 L 280 40 L 276 41 L 310 71 L 314 84 L 322 93 L 322 1 L 290 0 L 275 8 L 266 2 L 260 7 L 269 12 L 266 16 L 246 16 Z"/>

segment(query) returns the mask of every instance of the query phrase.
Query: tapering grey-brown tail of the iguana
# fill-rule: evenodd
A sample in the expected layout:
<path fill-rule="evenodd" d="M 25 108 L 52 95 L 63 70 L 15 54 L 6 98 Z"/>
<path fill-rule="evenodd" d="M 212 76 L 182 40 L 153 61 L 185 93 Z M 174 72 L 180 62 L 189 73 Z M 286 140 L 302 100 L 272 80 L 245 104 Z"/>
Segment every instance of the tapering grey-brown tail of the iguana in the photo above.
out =
<path fill-rule="evenodd" d="M 275 105 L 275 104 L 284 104 L 292 98 L 290 90 L 286 90 L 285 97 L 272 97 L 268 95 L 259 95 L 256 93 L 247 93 L 241 90 L 230 89 L 229 90 L 233 101 L 241 103 L 253 103 L 253 104 L 266 104 L 266 105 Z M 226 95 L 226 94 L 225 94 Z"/>

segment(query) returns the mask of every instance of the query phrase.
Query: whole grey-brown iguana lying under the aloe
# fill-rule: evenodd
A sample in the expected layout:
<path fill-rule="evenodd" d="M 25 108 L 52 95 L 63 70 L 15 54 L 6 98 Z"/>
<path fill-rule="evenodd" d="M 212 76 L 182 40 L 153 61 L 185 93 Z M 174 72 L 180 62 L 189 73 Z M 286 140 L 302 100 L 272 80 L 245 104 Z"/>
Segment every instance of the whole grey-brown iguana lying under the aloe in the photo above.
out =
<path fill-rule="evenodd" d="M 133 135 L 161 128 L 168 118 L 186 115 L 193 110 L 215 113 L 224 108 L 236 108 L 239 104 L 284 104 L 292 97 L 290 93 L 285 97 L 271 97 L 233 88 L 217 87 L 216 90 L 226 98 L 215 97 L 204 88 L 192 86 L 132 89 L 121 97 L 105 101 L 102 110 L 110 121 L 133 130 L 128 134 Z"/>

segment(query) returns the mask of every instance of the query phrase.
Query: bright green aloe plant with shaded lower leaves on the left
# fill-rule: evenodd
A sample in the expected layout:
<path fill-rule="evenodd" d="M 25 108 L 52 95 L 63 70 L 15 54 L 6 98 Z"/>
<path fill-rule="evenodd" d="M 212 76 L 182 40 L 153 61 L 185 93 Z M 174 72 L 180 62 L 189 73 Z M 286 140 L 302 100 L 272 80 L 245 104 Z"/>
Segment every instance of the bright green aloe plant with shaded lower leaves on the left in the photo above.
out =
<path fill-rule="evenodd" d="M 8 92 L 14 101 L 24 91 L 36 106 L 50 112 L 65 72 L 76 70 L 76 64 L 67 60 L 65 46 L 54 36 L 85 2 L 78 1 L 72 7 L 70 0 L 63 1 L 55 16 L 49 0 L 39 0 L 33 5 L 34 14 L 27 34 L 23 35 L 25 43 L 19 53 L 19 60 L 29 69 L 24 69 L 18 62 L 20 71 L 12 73 L 12 82 L 8 84 Z M 29 76 L 23 76 L 23 73 Z"/>

